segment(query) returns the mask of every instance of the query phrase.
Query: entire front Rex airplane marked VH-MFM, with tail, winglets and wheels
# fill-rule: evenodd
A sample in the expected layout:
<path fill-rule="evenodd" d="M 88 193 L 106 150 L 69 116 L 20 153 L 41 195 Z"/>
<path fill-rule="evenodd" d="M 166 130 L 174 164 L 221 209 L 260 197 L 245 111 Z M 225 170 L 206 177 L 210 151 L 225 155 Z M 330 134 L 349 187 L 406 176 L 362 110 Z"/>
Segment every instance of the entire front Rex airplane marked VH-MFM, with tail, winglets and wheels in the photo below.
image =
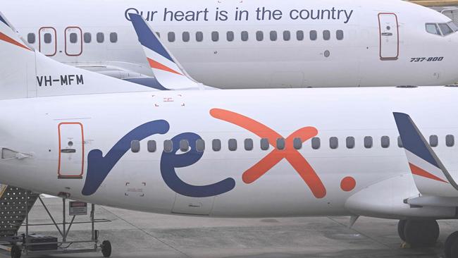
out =
<path fill-rule="evenodd" d="M 197 83 L 130 20 L 161 83 Z M 161 214 L 399 219 L 420 246 L 458 217 L 457 87 L 159 91 L 58 63 L 15 31 L 0 16 L 1 183 Z M 457 250 L 453 233 L 446 257 Z"/>

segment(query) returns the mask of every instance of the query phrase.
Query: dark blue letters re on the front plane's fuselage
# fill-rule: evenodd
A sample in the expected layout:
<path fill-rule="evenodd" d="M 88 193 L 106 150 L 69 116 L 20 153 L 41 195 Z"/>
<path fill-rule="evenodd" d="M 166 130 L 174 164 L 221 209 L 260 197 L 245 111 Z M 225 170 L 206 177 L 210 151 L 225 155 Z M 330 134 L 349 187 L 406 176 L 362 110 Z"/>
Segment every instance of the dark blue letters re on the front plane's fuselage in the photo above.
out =
<path fill-rule="evenodd" d="M 163 135 L 169 129 L 170 125 L 167 121 L 151 121 L 131 130 L 110 149 L 106 156 L 103 156 L 100 149 L 90 151 L 87 156 L 87 176 L 82 195 L 93 195 L 99 189 L 113 167 L 128 152 L 133 140 L 144 140 L 156 134 Z M 211 185 L 190 185 L 178 177 L 175 168 L 191 166 L 204 155 L 204 152 L 197 152 L 196 149 L 196 142 L 199 139 L 202 138 L 195 133 L 182 133 L 173 137 L 173 151 L 164 151 L 161 156 L 161 176 L 164 182 L 171 190 L 188 197 L 211 197 L 233 190 L 235 188 L 233 178 L 226 178 Z M 176 154 L 180 149 L 181 140 L 189 142 L 190 150 L 184 154 Z"/>

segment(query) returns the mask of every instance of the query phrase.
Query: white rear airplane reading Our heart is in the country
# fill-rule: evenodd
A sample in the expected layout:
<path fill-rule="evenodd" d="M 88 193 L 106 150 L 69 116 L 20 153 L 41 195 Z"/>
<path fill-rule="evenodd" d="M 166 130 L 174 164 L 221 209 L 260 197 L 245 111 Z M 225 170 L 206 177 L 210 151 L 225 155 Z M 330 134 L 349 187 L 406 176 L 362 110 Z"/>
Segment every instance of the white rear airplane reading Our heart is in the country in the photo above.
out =
<path fill-rule="evenodd" d="M 10 0 L 2 8 L 42 54 L 135 82 L 154 75 L 129 13 L 154 25 L 193 78 L 220 88 L 458 80 L 458 27 L 406 1 Z"/>

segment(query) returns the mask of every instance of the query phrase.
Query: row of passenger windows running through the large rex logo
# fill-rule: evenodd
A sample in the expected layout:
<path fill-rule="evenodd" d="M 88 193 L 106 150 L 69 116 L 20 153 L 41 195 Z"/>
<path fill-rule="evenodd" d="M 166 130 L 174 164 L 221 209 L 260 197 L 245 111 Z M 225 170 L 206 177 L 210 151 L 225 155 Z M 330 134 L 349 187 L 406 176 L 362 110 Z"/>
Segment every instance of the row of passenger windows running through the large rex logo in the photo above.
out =
<path fill-rule="evenodd" d="M 354 137 L 346 137 L 345 138 L 345 147 L 347 149 L 354 149 L 356 147 L 357 141 L 355 140 Z M 371 136 L 366 136 L 364 137 L 363 140 L 364 148 L 366 149 L 371 149 L 374 147 L 375 144 L 380 145 L 382 148 L 389 148 L 391 146 L 391 139 L 388 136 L 382 136 L 380 137 L 380 140 L 378 143 L 376 143 Z M 429 144 L 431 147 L 438 147 L 439 146 L 439 137 L 438 135 L 431 135 L 429 137 Z M 252 151 L 254 149 L 254 141 L 252 139 L 245 139 L 243 142 L 244 148 L 247 151 Z M 287 146 L 287 142 L 283 138 L 279 138 L 276 140 L 276 146 L 277 149 L 283 150 Z M 292 141 L 292 145 L 295 149 L 302 149 L 302 139 L 300 138 L 295 138 Z M 454 135 L 447 135 L 445 136 L 445 145 L 447 147 L 453 147 L 455 145 L 454 142 Z M 338 149 L 339 148 L 339 138 L 338 137 L 330 137 L 329 138 L 329 147 L 330 149 Z M 135 140 L 131 142 L 131 150 L 132 152 L 140 152 L 140 141 Z M 214 139 L 211 141 L 211 148 L 213 149 L 214 152 L 219 152 L 221 151 L 221 140 L 219 139 Z M 397 137 L 397 147 L 403 147 L 402 145 L 402 140 L 401 137 Z M 232 152 L 236 151 L 238 148 L 238 142 L 235 139 L 230 139 L 228 140 L 228 149 Z M 268 150 L 270 149 L 270 143 L 268 142 L 268 139 L 263 138 L 261 139 L 260 142 L 260 148 L 262 150 Z M 320 137 L 314 137 L 311 139 L 311 148 L 312 149 L 320 149 L 321 148 L 321 138 Z M 157 143 L 154 140 L 150 140 L 147 142 L 147 149 L 148 152 L 156 152 L 157 150 Z M 163 142 L 163 150 L 164 152 L 172 152 L 173 151 L 173 142 L 171 140 L 166 140 Z M 180 141 L 180 150 L 182 152 L 187 152 L 190 150 L 190 142 L 187 140 L 181 140 Z M 205 141 L 202 139 L 199 139 L 196 141 L 196 150 L 197 152 L 204 152 L 205 150 Z"/>

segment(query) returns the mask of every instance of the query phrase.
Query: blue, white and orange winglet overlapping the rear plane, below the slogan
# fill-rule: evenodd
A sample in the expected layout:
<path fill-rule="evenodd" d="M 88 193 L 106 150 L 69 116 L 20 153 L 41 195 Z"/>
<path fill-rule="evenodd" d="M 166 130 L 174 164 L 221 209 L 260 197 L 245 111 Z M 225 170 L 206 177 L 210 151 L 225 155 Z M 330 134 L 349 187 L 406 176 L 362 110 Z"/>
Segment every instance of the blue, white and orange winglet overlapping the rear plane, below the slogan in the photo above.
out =
<path fill-rule="evenodd" d="M 149 27 L 142 16 L 130 13 L 130 20 L 137 32 L 138 40 L 147 56 L 149 66 L 153 70 L 156 79 L 168 89 L 203 89 L 204 85 L 192 79 L 177 59 L 161 43 L 154 30 Z"/>

